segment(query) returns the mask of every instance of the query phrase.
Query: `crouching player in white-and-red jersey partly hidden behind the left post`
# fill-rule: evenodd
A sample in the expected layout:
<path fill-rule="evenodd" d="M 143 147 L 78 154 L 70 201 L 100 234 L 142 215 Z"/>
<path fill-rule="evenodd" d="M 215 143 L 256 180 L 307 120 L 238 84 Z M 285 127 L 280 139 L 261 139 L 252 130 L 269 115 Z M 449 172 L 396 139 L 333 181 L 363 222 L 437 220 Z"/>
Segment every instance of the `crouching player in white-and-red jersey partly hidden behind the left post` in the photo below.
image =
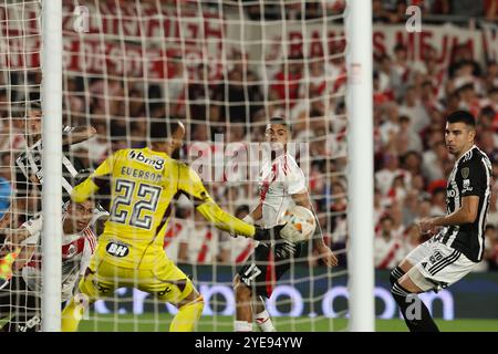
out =
<path fill-rule="evenodd" d="M 76 204 L 69 201 L 62 219 L 62 301 L 73 295 L 73 289 L 84 275 L 96 246 L 91 228 L 94 214 L 91 199 Z M 0 290 L 0 319 L 9 321 L 1 331 L 31 332 L 41 325 L 40 303 L 42 283 L 42 257 L 40 253 L 43 217 L 38 215 L 15 230 L 2 251 L 9 244 L 21 246 L 12 263 L 13 277 Z M 9 250 L 6 250 L 9 251 Z M 10 319 L 10 320 L 9 320 Z"/>

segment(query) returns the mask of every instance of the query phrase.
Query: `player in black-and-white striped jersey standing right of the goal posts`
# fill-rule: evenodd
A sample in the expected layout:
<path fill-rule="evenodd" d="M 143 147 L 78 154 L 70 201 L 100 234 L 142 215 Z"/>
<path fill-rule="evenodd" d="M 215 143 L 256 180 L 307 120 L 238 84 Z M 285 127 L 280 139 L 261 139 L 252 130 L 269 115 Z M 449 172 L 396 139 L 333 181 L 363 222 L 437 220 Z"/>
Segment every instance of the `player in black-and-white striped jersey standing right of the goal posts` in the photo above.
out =
<path fill-rule="evenodd" d="M 446 186 L 447 214 L 419 221 L 421 232 L 434 236 L 391 273 L 393 296 L 412 332 L 438 331 L 422 301 L 417 301 L 419 316 L 414 316 L 415 294 L 452 285 L 483 260 L 491 163 L 474 144 L 475 136 L 476 119 L 470 113 L 457 111 L 446 118 L 446 146 L 456 157 Z"/>

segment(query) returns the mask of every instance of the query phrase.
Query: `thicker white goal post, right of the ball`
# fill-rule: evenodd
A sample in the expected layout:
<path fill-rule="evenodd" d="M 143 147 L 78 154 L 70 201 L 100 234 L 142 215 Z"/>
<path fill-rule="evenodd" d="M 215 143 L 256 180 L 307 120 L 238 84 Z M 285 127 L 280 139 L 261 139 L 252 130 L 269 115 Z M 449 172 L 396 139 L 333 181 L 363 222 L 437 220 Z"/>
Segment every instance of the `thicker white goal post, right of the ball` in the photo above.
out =
<path fill-rule="evenodd" d="M 345 19 L 350 122 L 350 331 L 372 332 L 375 330 L 372 2 L 350 0 Z"/>

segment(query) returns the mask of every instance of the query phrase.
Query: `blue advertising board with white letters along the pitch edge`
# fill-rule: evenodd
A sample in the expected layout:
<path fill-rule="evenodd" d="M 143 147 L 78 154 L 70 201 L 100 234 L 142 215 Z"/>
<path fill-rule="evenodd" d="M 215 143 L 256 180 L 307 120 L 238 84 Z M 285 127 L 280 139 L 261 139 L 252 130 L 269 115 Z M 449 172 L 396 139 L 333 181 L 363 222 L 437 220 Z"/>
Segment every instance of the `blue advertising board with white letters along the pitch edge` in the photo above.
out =
<path fill-rule="evenodd" d="M 235 315 L 235 299 L 231 288 L 234 277 L 231 267 L 180 266 L 194 279 L 203 293 L 206 306 L 204 315 Z M 214 279 L 216 274 L 216 279 Z M 277 285 L 267 309 L 272 316 L 317 316 L 338 317 L 347 309 L 347 284 L 344 278 L 331 280 L 323 269 L 311 274 L 308 267 L 297 268 L 291 282 L 287 275 Z M 375 273 L 375 308 L 380 319 L 401 317 L 396 303 L 390 292 L 388 271 Z M 305 279 L 307 281 L 302 281 Z M 497 319 L 498 317 L 498 274 L 496 272 L 470 273 L 455 285 L 438 293 L 429 292 L 422 296 L 433 315 L 438 319 Z M 147 293 L 133 289 L 117 290 L 118 303 L 100 300 L 95 303 L 97 313 L 133 313 L 165 311 L 176 313 L 169 304 L 157 304 Z M 116 310 L 117 309 L 117 310 Z"/>

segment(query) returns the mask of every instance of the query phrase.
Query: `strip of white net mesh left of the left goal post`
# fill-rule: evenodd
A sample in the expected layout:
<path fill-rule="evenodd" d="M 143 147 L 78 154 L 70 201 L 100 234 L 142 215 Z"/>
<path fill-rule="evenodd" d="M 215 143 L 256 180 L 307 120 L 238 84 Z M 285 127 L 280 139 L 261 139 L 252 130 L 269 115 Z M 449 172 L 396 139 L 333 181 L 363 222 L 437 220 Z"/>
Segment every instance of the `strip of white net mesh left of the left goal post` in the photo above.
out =
<path fill-rule="evenodd" d="M 14 167 L 15 159 L 25 156 L 40 134 L 40 119 L 34 112 L 27 114 L 29 107 L 40 104 L 39 1 L 1 1 L 0 32 L 0 227 L 2 246 L 6 240 L 13 243 L 2 248 L 3 257 L 10 248 L 19 246 L 8 236 L 37 212 L 41 201 L 34 179 L 30 181 L 22 169 Z M 22 160 L 28 163 L 25 158 Z M 37 166 L 38 160 L 29 164 Z M 27 257 L 21 257 L 28 261 Z M 37 258 L 29 261 L 31 268 L 39 264 Z M 2 262 L 1 269 L 3 272 L 9 268 Z M 4 326 L 9 330 L 35 329 L 40 323 L 38 298 L 28 290 L 22 277 L 12 278 L 7 284 L 3 281 L 0 284 L 4 287 L 0 293 L 0 323 L 11 320 L 12 326 Z"/>

